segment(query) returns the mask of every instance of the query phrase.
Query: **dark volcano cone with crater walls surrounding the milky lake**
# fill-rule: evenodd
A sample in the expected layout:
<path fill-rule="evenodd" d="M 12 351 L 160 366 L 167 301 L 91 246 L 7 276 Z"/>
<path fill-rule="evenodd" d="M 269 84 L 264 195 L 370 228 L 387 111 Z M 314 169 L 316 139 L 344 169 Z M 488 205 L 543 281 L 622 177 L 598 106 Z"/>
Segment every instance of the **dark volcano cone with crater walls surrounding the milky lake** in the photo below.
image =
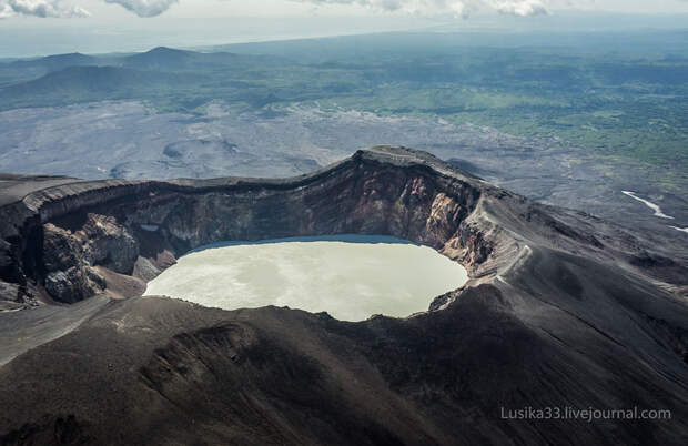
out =
<path fill-rule="evenodd" d="M 79 182 L 0 213 L 0 293 L 16 306 L 133 295 L 194 246 L 290 235 L 395 235 L 472 277 L 425 314 L 361 323 L 112 301 L 0 367 L 6 444 L 680 445 L 688 435 L 686 246 L 529 202 L 422 152 L 375 148 L 284 181 Z M 671 419 L 500 418 L 527 406 L 637 406 Z"/>

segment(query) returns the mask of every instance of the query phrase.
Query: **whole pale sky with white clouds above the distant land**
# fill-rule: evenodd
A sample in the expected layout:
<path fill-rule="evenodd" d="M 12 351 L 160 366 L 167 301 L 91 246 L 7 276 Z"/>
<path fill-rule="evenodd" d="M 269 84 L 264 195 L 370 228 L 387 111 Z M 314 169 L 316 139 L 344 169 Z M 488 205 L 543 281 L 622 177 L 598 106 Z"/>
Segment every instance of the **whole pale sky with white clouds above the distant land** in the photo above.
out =
<path fill-rule="evenodd" d="M 688 28 L 688 0 L 0 0 L 0 59 L 424 29 L 613 28 Z"/>

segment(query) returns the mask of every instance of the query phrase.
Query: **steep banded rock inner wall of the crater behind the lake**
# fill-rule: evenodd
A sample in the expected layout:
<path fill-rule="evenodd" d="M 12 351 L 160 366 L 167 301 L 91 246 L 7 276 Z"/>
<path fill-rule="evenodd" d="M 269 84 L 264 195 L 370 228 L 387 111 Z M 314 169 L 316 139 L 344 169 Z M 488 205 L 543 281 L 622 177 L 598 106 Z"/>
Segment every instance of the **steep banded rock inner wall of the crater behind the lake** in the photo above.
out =
<path fill-rule="evenodd" d="M 149 281 L 200 245 L 352 233 L 432 246 L 475 275 L 492 251 L 492 242 L 466 221 L 480 194 L 426 165 L 361 155 L 291 182 L 89 190 L 38 205 L 41 223 L 32 231 L 42 243 L 26 247 L 22 255 L 31 261 L 22 274 L 52 298 L 77 302 L 122 275 Z"/>

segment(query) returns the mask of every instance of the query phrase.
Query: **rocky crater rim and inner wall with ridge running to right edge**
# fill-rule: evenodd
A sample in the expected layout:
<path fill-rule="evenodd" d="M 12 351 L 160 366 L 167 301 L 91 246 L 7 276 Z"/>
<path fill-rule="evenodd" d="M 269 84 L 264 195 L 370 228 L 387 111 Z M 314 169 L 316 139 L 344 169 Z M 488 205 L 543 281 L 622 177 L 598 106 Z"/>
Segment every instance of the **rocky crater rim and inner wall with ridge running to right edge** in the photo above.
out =
<path fill-rule="evenodd" d="M 641 246 L 627 230 L 529 202 L 399 148 L 361 151 L 290 180 L 73 182 L 1 211 L 10 223 L 2 227 L 3 286 L 43 285 L 61 302 L 104 288 L 97 265 L 150 280 L 202 244 L 336 233 L 426 244 L 464 264 L 474 278 L 496 276 L 530 244 L 600 261 L 620 257 L 636 274 L 666 280 L 670 291 L 686 285 L 687 250 L 671 253 L 681 265 L 666 249 Z"/>

